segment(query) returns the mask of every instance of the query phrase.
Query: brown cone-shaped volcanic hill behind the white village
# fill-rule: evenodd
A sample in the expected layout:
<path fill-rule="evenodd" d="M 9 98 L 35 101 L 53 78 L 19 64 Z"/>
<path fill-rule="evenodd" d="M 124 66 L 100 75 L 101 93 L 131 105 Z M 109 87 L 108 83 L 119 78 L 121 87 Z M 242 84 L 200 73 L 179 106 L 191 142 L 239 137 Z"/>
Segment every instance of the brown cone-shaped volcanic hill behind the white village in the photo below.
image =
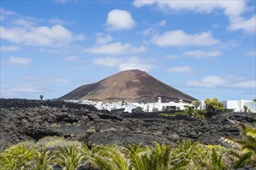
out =
<path fill-rule="evenodd" d="M 140 70 L 122 71 L 97 83 L 83 85 L 59 100 L 124 100 L 147 103 L 154 102 L 157 97 L 161 97 L 163 102 L 196 100 Z"/>

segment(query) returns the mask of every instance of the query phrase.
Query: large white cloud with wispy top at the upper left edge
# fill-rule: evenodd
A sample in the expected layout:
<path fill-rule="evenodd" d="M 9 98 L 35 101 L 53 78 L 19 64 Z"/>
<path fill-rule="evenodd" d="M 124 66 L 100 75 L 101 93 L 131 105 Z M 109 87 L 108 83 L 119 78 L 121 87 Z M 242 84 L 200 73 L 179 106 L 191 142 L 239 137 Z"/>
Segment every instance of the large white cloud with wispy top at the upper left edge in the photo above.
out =
<path fill-rule="evenodd" d="M 1 39 L 15 44 L 26 46 L 64 46 L 76 40 L 83 40 L 82 34 L 74 34 L 60 24 L 54 26 L 38 26 L 40 22 L 49 22 L 45 19 L 37 19 L 30 16 L 21 16 L 15 12 L 1 8 L 1 15 L 9 17 L 8 24 L 0 26 Z M 7 21 L 7 19 L 5 19 Z M 64 24 L 61 19 L 50 19 L 50 22 Z"/>

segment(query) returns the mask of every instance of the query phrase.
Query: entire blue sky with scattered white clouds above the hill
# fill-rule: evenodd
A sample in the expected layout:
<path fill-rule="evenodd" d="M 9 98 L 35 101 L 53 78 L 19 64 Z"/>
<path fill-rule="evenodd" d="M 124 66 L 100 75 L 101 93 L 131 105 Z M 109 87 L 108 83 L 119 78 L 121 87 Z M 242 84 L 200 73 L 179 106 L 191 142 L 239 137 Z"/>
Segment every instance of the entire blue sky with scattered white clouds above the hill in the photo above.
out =
<path fill-rule="evenodd" d="M 145 70 L 205 100 L 255 97 L 255 1 L 1 2 L 1 97 Z"/>

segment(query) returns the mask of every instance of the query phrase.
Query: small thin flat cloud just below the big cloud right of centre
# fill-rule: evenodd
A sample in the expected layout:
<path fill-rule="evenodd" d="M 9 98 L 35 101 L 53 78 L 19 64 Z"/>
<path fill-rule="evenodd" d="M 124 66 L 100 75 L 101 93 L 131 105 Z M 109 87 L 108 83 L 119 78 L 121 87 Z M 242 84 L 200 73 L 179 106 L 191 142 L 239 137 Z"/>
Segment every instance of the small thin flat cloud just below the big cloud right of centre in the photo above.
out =
<path fill-rule="evenodd" d="M 202 51 L 202 50 L 194 50 L 187 51 L 183 53 L 183 56 L 192 56 L 194 58 L 211 58 L 220 56 L 222 54 L 221 51 Z"/>

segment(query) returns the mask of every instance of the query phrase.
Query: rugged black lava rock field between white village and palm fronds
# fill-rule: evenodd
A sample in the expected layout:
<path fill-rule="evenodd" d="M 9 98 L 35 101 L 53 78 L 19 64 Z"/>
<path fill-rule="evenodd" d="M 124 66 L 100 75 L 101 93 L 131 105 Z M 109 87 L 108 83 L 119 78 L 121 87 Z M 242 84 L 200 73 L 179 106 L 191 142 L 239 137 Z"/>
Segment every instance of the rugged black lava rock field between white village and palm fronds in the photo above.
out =
<path fill-rule="evenodd" d="M 217 114 L 206 119 L 182 115 L 106 114 L 95 107 L 65 103 L 0 99 L 0 151 L 25 140 L 64 136 L 88 145 L 173 144 L 183 139 L 220 144 L 220 138 L 239 138 L 237 124 L 255 124 L 256 114 Z"/>

